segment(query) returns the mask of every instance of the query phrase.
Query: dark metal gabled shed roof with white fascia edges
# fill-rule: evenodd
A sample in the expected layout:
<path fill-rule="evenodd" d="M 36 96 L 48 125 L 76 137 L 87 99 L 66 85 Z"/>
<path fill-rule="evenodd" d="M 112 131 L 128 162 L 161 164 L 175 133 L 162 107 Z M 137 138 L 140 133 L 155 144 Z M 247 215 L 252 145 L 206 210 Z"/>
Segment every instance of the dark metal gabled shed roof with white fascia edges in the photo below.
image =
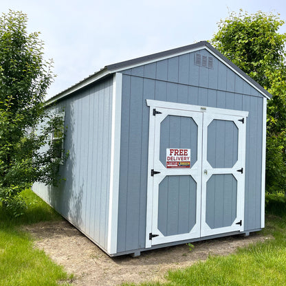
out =
<path fill-rule="evenodd" d="M 78 91 L 79 89 L 82 89 L 83 87 L 86 87 L 87 85 L 90 85 L 91 83 L 100 80 L 100 78 L 104 78 L 105 76 L 109 76 L 110 74 L 113 74 L 115 72 L 120 72 L 124 69 L 128 69 L 131 67 L 146 65 L 147 63 L 153 63 L 154 61 L 160 61 L 165 58 L 171 58 L 173 56 L 179 56 L 181 54 L 187 54 L 188 52 L 195 52 L 196 50 L 202 50 L 202 49 L 208 50 L 208 52 L 212 53 L 214 56 L 219 58 L 220 61 L 225 63 L 225 65 L 228 65 L 228 67 L 234 70 L 234 72 L 236 72 L 236 74 L 241 76 L 241 78 L 250 83 L 250 85 L 252 85 L 256 90 L 258 90 L 263 96 L 265 96 L 268 99 L 272 98 L 272 94 L 270 94 L 267 90 L 261 87 L 259 83 L 256 83 L 255 80 L 253 80 L 252 78 L 250 78 L 250 76 L 245 74 L 245 72 L 243 72 L 239 67 L 234 65 L 232 61 L 228 60 L 228 58 L 225 58 L 225 56 L 223 56 L 223 54 L 221 54 L 217 49 L 212 47 L 210 43 L 208 43 L 207 41 L 201 41 L 199 43 L 195 43 L 192 45 L 177 47 L 172 50 L 158 52 L 148 56 L 141 56 L 140 58 L 133 58 L 129 61 L 122 61 L 120 63 L 106 65 L 104 68 L 100 69 L 100 71 L 91 74 L 87 78 L 81 80 L 79 83 L 76 83 L 75 85 L 72 85 L 72 87 L 69 87 L 64 91 L 61 91 L 61 93 L 57 94 L 56 96 L 53 96 L 52 98 L 47 100 L 46 104 L 48 105 L 51 104 L 52 102 L 55 102 L 56 100 L 65 98 L 66 96 L 73 94 L 75 91 Z"/>

